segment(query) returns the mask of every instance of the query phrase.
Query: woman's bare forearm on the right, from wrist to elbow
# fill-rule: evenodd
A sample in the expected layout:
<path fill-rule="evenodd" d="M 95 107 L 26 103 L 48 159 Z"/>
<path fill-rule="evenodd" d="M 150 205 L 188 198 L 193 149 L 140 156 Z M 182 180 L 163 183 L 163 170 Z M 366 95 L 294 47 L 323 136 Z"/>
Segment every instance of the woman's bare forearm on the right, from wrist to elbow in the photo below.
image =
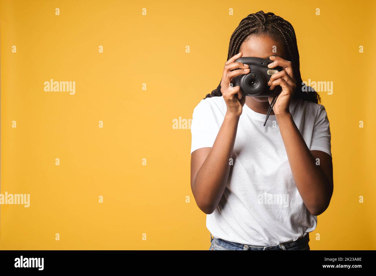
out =
<path fill-rule="evenodd" d="M 329 205 L 331 184 L 317 166 L 290 113 L 276 116 L 297 189 L 308 211 L 321 214 Z"/>

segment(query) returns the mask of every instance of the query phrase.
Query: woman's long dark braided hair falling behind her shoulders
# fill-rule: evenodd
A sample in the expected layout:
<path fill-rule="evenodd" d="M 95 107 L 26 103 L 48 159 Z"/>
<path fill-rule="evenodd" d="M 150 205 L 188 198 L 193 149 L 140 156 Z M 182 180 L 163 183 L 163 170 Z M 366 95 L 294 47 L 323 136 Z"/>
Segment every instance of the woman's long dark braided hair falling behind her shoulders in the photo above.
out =
<path fill-rule="evenodd" d="M 296 90 L 293 98 L 303 101 L 311 101 L 320 103 L 320 96 L 316 91 L 311 89 L 310 92 L 304 92 L 302 87 L 302 77 L 300 75 L 299 51 L 296 43 L 296 35 L 293 26 L 282 17 L 279 17 L 272 12 L 265 14 L 263 11 L 250 14 L 240 21 L 239 26 L 231 35 L 229 52 L 227 60 L 239 53 L 241 44 L 246 41 L 251 35 L 268 35 L 276 41 L 282 42 L 288 53 L 287 59 L 291 61 L 294 69 L 294 76 L 296 78 Z M 221 82 L 218 87 L 214 89 L 211 94 L 206 95 L 205 98 L 222 96 Z"/>

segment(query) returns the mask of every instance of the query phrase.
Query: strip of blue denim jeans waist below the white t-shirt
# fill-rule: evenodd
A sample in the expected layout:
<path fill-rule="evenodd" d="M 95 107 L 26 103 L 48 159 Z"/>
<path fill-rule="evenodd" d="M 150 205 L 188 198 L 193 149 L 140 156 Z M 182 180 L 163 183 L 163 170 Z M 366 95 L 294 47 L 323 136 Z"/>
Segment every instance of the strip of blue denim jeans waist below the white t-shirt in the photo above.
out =
<path fill-rule="evenodd" d="M 235 243 L 232 241 L 227 241 L 227 240 L 222 240 L 220 238 L 215 238 L 212 236 L 210 233 L 210 240 L 215 240 L 215 242 L 224 248 L 231 248 L 233 246 L 235 247 L 240 247 L 240 250 L 249 250 L 249 249 L 255 249 L 255 250 L 274 250 L 274 249 L 279 249 L 279 250 L 288 250 L 293 247 L 296 247 L 297 250 L 299 248 L 304 248 L 308 245 L 309 242 L 309 233 L 305 233 L 303 237 L 298 238 L 295 241 L 289 241 L 287 243 L 280 243 L 276 245 L 269 245 L 269 246 L 256 246 L 256 245 L 250 245 L 250 244 L 241 244 L 241 243 Z M 231 250 L 231 249 L 230 249 Z M 236 249 L 239 250 L 239 249 Z"/>

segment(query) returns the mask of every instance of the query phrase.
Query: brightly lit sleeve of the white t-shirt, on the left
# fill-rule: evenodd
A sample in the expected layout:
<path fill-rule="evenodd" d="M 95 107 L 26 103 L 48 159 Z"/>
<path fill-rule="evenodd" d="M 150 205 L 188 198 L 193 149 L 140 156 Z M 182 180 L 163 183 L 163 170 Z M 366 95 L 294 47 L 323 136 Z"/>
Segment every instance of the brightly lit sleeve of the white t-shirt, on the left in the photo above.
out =
<path fill-rule="evenodd" d="M 215 110 L 206 100 L 201 100 L 194 108 L 191 122 L 191 153 L 196 149 L 213 146 L 220 129 L 217 118 L 219 113 L 219 110 Z"/>

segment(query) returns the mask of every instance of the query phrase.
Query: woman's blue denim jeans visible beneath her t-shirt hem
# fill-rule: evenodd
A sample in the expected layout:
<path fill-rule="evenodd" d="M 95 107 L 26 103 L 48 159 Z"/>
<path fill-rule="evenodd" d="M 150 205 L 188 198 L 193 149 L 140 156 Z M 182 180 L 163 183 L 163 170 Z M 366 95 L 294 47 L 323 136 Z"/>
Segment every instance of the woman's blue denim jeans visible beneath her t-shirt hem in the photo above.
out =
<path fill-rule="evenodd" d="M 233 243 L 232 241 L 214 238 L 212 237 L 212 234 L 210 234 L 210 241 L 211 246 L 209 250 L 309 250 L 309 233 L 298 238 L 296 241 L 269 246 Z"/>

